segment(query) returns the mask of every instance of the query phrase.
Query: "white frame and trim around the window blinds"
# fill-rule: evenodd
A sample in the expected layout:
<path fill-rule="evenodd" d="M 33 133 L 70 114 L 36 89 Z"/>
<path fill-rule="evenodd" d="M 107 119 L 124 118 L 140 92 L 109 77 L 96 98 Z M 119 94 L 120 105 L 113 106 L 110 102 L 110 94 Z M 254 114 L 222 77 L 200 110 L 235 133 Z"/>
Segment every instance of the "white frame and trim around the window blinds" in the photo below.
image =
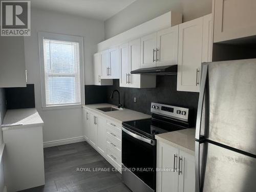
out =
<path fill-rule="evenodd" d="M 79 43 L 79 60 L 80 60 L 80 93 L 81 103 L 79 104 L 62 104 L 62 105 L 46 105 L 46 88 L 45 88 L 45 59 L 44 59 L 44 38 L 60 41 L 72 41 Z M 81 107 L 84 104 L 84 64 L 83 64 L 83 37 L 63 35 L 57 33 L 38 32 L 39 60 L 40 60 L 40 79 L 41 79 L 41 101 L 42 109 L 67 109 Z"/>

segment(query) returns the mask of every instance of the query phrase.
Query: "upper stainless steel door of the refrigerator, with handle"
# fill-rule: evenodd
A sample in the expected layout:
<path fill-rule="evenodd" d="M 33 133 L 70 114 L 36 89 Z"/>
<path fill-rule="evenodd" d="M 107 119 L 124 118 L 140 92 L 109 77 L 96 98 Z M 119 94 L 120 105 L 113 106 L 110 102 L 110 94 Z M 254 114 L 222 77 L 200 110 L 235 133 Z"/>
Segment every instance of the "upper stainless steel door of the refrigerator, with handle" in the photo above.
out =
<path fill-rule="evenodd" d="M 207 68 L 200 90 L 205 92 L 205 105 L 198 111 L 203 114 L 197 120 L 197 126 L 202 122 L 200 134 L 256 155 L 256 59 L 212 62 Z"/>

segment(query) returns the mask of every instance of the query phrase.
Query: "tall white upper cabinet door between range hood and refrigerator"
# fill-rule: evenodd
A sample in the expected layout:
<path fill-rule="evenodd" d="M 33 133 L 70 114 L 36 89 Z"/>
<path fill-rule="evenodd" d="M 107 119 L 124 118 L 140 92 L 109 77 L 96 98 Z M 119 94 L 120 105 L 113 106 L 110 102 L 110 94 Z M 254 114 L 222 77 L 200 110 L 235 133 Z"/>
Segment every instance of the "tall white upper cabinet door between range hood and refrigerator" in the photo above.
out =
<path fill-rule="evenodd" d="M 177 90 L 199 92 L 203 17 L 179 25 Z"/>

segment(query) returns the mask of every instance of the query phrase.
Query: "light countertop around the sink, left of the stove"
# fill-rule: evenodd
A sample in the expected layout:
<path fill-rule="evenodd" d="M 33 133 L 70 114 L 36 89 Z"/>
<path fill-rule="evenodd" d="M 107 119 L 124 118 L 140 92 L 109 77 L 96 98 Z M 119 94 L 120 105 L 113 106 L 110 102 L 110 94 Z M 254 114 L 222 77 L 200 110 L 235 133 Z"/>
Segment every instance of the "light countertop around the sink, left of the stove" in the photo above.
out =
<path fill-rule="evenodd" d="M 83 105 L 82 107 L 90 111 L 93 110 L 93 112 L 99 115 L 105 116 L 106 118 L 110 118 L 118 122 L 119 124 L 121 124 L 123 121 L 132 121 L 132 120 L 138 120 L 138 119 L 151 118 L 151 115 L 146 115 L 144 113 L 140 113 L 140 112 L 125 109 L 125 108 L 118 111 L 111 111 L 111 112 L 103 112 L 97 109 L 97 108 L 104 108 L 108 106 L 113 106 L 114 108 L 117 108 L 117 106 L 109 103 L 87 104 L 87 105 Z"/>

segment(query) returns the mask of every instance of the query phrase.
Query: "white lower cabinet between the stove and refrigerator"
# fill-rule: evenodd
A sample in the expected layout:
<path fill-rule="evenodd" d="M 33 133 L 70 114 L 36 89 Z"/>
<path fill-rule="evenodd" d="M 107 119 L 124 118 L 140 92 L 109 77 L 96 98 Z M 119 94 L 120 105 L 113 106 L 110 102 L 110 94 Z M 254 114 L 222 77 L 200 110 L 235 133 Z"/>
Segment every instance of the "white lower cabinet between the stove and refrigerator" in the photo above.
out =
<path fill-rule="evenodd" d="M 195 191 L 193 155 L 157 141 L 157 168 L 161 169 L 157 172 L 157 192 Z"/>

